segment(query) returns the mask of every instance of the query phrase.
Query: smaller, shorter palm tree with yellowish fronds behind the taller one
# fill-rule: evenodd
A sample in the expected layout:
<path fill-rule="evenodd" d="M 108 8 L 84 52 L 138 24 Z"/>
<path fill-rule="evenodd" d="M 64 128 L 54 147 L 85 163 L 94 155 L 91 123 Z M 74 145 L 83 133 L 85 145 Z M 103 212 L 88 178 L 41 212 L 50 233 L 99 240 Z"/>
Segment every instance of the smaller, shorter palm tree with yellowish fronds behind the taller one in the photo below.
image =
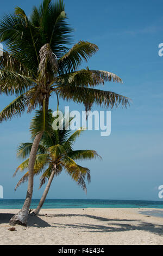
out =
<path fill-rule="evenodd" d="M 51 111 L 48 111 L 48 115 L 52 115 Z M 42 116 L 41 111 L 37 111 L 37 115 L 32 122 L 32 133 L 35 134 L 35 129 L 37 129 L 37 125 L 40 122 L 40 116 Z M 68 122 L 68 126 L 73 118 Z M 38 122 L 39 120 L 39 122 Z M 52 118 L 53 123 L 54 118 Z M 52 124 L 51 124 L 52 126 Z M 71 134 L 70 130 L 66 130 L 67 124 L 63 129 L 53 130 L 51 134 L 43 133 L 41 138 L 39 148 L 37 150 L 34 172 L 35 175 L 39 175 L 43 172 L 41 176 L 40 188 L 43 184 L 47 182 L 47 186 L 43 195 L 41 197 L 40 203 L 34 211 L 35 215 L 38 215 L 43 203 L 46 200 L 49 188 L 51 187 L 54 176 L 58 176 L 63 169 L 66 170 L 67 174 L 72 177 L 74 181 L 78 183 L 79 186 L 83 188 L 86 192 L 86 184 L 85 178 L 90 183 L 90 170 L 78 165 L 76 160 L 86 160 L 86 159 L 95 159 L 97 157 L 101 158 L 96 151 L 94 150 L 73 150 L 73 144 L 76 142 L 77 137 L 83 131 L 83 129 L 78 129 L 76 132 Z M 51 129 L 51 128 L 50 128 Z M 49 130 L 48 130 L 49 132 Z M 14 176 L 20 171 L 24 171 L 28 169 L 29 164 L 29 153 L 32 148 L 31 143 L 22 143 L 18 147 L 17 157 L 25 159 L 23 163 L 21 163 L 16 169 Z M 21 178 L 21 180 L 17 183 L 15 190 L 21 183 L 28 180 L 29 172 L 27 171 L 25 175 Z"/>

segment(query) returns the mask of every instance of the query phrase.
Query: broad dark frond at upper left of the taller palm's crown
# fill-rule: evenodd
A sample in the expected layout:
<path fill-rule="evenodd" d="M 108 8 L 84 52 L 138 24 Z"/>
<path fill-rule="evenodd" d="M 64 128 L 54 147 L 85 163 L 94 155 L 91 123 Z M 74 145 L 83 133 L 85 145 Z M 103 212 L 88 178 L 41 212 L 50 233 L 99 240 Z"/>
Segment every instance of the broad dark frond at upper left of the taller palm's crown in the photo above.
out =
<path fill-rule="evenodd" d="M 19 8 L 20 9 L 20 8 Z M 23 12 L 23 10 L 22 10 Z M 17 11 L 16 11 L 17 13 Z M 7 45 L 9 52 L 17 57 L 28 69 L 37 73 L 39 50 L 35 49 L 38 29 L 20 14 L 5 15 L 0 21 L 0 40 Z"/>

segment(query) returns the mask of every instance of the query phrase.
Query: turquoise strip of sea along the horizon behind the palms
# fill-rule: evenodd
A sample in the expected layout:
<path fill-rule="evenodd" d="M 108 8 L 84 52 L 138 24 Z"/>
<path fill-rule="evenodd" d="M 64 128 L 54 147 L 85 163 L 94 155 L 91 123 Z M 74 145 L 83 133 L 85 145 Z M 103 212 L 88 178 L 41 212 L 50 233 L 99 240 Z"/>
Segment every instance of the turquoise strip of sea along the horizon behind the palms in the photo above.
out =
<path fill-rule="evenodd" d="M 39 199 L 33 199 L 30 206 L 35 209 Z M 24 199 L 0 199 L 0 209 L 21 209 Z M 63 208 L 158 208 L 163 209 L 163 201 L 136 200 L 85 200 L 85 199 L 47 199 L 43 209 Z M 162 211 L 163 212 L 163 211 Z"/>

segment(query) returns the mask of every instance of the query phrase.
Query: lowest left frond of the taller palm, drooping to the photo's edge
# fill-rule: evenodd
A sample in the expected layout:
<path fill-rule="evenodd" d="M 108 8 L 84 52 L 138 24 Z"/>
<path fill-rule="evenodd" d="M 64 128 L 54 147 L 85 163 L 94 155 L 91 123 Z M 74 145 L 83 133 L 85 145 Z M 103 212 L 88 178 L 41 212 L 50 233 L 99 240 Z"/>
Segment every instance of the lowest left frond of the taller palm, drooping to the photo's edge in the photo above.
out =
<path fill-rule="evenodd" d="M 14 99 L 8 106 L 0 112 L 0 123 L 10 120 L 13 116 L 20 116 L 27 108 L 27 99 L 22 94 Z"/>

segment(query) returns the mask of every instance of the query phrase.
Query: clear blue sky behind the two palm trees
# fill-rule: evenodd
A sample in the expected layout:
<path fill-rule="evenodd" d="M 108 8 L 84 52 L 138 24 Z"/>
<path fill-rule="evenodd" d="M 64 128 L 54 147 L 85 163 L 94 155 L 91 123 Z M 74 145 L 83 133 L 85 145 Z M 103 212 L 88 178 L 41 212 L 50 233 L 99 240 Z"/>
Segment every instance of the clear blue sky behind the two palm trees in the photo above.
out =
<path fill-rule="evenodd" d="M 18 5 L 30 14 L 40 0 L 9 1 L 1 5 L 0 17 L 11 13 Z M 100 136 L 99 131 L 86 131 L 77 140 L 75 148 L 96 150 L 102 161 L 84 162 L 91 169 L 91 184 L 84 194 L 65 173 L 53 181 L 48 198 L 76 199 L 137 199 L 160 200 L 158 186 L 163 184 L 163 57 L 158 45 L 163 43 L 163 2 L 65 0 L 66 13 L 74 28 L 74 43 L 87 40 L 99 51 L 88 63 L 91 69 L 108 70 L 122 78 L 124 84 L 106 83 L 105 90 L 114 91 L 133 100 L 130 108 L 111 112 L 111 135 Z M 82 68 L 81 67 L 81 68 Z M 102 87 L 99 87 L 102 88 Z M 2 110 L 12 97 L 0 96 Z M 71 110 L 84 110 L 82 105 L 70 105 Z M 56 108 L 55 97 L 51 108 Z M 104 110 L 97 106 L 93 110 Z M 16 148 L 29 141 L 32 115 L 0 125 L 1 178 L 4 198 L 24 198 L 27 184 L 14 192 L 21 175 L 12 178 L 20 163 Z M 35 179 L 34 198 L 40 198 L 39 178 Z"/>

